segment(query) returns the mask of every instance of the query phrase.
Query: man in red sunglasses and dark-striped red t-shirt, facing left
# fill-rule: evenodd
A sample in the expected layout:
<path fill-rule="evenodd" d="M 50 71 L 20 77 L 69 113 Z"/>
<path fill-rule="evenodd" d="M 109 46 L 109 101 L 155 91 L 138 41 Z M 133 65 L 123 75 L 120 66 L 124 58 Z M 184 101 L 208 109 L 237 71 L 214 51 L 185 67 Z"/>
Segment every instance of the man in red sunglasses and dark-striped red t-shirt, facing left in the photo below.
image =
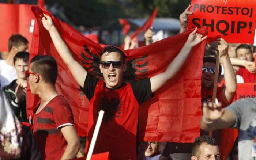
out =
<path fill-rule="evenodd" d="M 72 159 L 80 148 L 71 108 L 55 89 L 57 72 L 50 56 L 35 56 L 25 72 L 31 93 L 41 98 L 34 109 L 33 137 L 45 160 Z"/>

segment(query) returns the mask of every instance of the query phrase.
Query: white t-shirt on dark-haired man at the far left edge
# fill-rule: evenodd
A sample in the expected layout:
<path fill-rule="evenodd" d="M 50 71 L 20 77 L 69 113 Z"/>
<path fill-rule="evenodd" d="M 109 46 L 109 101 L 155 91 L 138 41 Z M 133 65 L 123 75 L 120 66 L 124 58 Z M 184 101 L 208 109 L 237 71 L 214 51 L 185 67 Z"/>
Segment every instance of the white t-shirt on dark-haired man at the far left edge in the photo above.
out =
<path fill-rule="evenodd" d="M 5 63 L 4 60 L 0 60 L 0 84 L 1 87 L 5 87 L 13 80 L 17 79 L 17 73 L 14 66 L 10 66 Z"/>

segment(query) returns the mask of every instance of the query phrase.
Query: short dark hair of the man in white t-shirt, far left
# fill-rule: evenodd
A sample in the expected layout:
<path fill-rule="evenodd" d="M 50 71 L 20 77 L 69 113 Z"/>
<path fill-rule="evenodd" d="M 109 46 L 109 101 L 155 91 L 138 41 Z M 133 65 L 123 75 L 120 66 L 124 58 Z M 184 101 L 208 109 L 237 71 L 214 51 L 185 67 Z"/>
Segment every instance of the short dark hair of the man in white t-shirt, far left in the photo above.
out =
<path fill-rule="evenodd" d="M 8 50 L 10 51 L 12 49 L 12 46 L 19 47 L 22 44 L 27 45 L 28 43 L 29 41 L 27 41 L 27 39 L 22 35 L 14 34 L 8 40 Z"/>

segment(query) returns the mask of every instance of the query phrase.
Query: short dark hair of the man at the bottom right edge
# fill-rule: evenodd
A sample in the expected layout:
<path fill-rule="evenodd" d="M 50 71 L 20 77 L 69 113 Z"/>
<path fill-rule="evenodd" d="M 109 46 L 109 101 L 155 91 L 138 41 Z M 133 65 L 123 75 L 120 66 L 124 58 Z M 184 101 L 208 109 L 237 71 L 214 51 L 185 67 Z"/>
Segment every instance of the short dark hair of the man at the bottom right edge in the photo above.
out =
<path fill-rule="evenodd" d="M 210 136 L 200 136 L 195 139 L 195 142 L 192 145 L 192 156 L 196 156 L 197 158 L 200 156 L 199 148 L 201 144 L 210 144 L 212 146 L 217 145 L 216 141 L 213 137 Z"/>

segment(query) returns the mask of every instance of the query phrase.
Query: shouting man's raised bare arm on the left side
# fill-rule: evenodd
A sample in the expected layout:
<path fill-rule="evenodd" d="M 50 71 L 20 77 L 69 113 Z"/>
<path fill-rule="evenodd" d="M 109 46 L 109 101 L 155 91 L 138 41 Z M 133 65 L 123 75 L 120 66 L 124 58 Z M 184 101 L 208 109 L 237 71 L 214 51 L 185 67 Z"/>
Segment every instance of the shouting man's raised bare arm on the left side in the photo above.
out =
<path fill-rule="evenodd" d="M 69 71 L 71 71 L 78 84 L 83 87 L 87 71 L 73 58 L 68 46 L 60 37 L 57 28 L 54 26 L 52 18 L 46 14 L 44 14 L 44 16 L 45 17 L 42 18 L 43 25 L 45 29 L 49 31 L 53 44 L 60 54 L 60 57 L 68 66 Z"/>

